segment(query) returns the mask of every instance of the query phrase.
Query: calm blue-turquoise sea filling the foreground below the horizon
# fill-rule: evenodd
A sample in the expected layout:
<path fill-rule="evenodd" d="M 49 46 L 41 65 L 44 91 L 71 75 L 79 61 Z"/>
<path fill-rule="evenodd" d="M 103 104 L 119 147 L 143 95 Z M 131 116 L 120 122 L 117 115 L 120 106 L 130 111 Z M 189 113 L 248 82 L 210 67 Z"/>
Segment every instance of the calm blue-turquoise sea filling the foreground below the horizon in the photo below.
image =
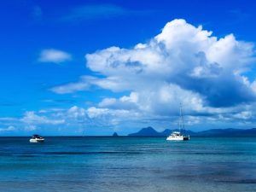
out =
<path fill-rule="evenodd" d="M 0 191 L 256 191 L 255 137 L 0 137 Z"/>

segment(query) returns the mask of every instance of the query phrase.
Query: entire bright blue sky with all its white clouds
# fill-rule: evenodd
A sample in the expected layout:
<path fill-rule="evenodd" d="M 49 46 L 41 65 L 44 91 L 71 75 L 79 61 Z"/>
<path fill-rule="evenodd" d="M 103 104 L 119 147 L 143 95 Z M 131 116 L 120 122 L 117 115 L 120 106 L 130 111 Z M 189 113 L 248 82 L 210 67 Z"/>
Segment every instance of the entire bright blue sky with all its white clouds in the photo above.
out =
<path fill-rule="evenodd" d="M 0 136 L 256 127 L 256 3 L 0 3 Z"/>

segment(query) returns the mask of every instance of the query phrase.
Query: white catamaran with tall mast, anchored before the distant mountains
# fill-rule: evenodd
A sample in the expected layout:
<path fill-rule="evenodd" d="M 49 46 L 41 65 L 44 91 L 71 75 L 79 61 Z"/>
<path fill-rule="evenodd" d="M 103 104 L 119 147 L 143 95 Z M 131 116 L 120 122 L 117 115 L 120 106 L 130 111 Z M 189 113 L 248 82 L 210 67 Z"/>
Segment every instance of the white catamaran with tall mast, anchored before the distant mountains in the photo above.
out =
<path fill-rule="evenodd" d="M 181 127 L 185 128 L 184 125 L 184 119 L 183 119 L 183 110 L 182 110 L 182 105 L 180 104 L 179 108 L 179 120 L 178 120 L 178 129 L 179 131 L 173 131 L 170 136 L 166 138 L 168 141 L 184 141 L 184 140 L 189 140 L 189 136 L 183 136 L 181 133 Z"/>

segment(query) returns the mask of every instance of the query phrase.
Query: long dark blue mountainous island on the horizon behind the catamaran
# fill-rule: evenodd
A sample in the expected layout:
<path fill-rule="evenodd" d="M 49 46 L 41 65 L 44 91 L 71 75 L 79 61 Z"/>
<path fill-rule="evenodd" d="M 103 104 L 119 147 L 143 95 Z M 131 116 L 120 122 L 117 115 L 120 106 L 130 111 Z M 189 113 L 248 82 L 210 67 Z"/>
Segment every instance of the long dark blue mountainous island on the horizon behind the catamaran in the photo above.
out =
<path fill-rule="evenodd" d="M 172 131 L 178 131 L 166 129 L 165 131 L 155 131 L 154 128 L 148 126 L 146 128 L 137 131 L 136 133 L 131 133 L 128 136 L 130 137 L 167 137 L 169 136 Z M 186 135 L 192 137 L 256 137 L 256 128 L 253 129 L 211 129 L 207 131 L 189 131 L 189 130 L 181 130 Z"/>

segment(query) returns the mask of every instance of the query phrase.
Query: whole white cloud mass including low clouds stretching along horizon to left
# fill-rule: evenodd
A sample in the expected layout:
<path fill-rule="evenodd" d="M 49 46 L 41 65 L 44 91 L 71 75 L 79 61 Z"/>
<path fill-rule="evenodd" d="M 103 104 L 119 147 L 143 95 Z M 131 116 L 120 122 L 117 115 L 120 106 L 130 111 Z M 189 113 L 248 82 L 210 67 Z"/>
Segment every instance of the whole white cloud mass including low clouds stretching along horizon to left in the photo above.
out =
<path fill-rule="evenodd" d="M 73 106 L 26 112 L 20 119 L 2 118 L 0 132 L 19 130 L 20 125 L 27 131 L 49 126 L 60 131 L 75 127 L 78 132 L 84 127 L 118 129 L 120 125 L 123 130 L 145 125 L 166 128 L 175 124 L 179 102 L 186 125 L 200 128 L 207 122 L 209 128 L 256 121 L 256 81 L 247 76 L 256 61 L 255 50 L 232 34 L 217 38 L 202 26 L 172 20 L 147 43 L 97 50 L 85 59 L 97 76 L 83 76 L 79 82 L 50 90 L 72 94 L 97 86 L 121 92 L 119 97 L 105 96 L 90 108 Z"/>

